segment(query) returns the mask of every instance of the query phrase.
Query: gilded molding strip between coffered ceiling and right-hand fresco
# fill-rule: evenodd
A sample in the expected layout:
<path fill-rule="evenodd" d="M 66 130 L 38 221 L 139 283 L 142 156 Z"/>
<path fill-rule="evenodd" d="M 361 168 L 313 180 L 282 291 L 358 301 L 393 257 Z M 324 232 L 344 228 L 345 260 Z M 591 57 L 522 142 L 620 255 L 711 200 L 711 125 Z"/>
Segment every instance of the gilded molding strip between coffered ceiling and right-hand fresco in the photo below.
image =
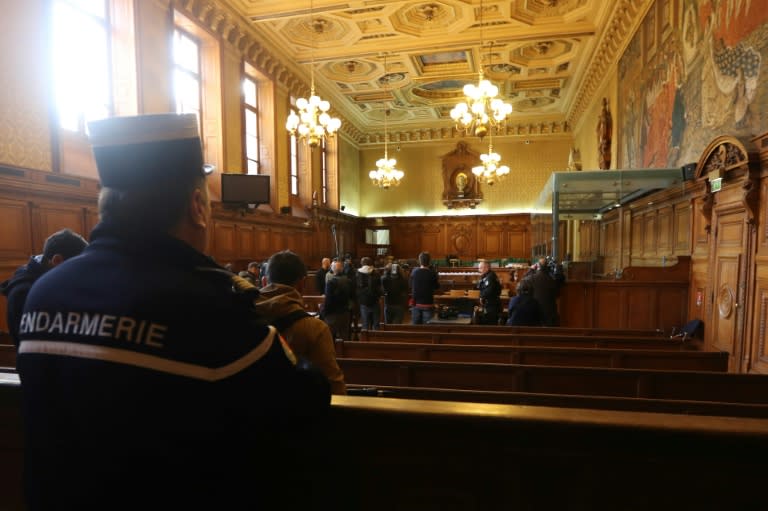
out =
<path fill-rule="evenodd" d="M 583 83 L 577 88 L 578 95 L 568 113 L 568 122 L 576 126 L 579 118 L 603 85 L 606 70 L 621 58 L 621 52 L 629 44 L 648 9 L 655 0 L 620 0 L 611 13 L 611 19 L 600 37 L 589 70 Z"/>

